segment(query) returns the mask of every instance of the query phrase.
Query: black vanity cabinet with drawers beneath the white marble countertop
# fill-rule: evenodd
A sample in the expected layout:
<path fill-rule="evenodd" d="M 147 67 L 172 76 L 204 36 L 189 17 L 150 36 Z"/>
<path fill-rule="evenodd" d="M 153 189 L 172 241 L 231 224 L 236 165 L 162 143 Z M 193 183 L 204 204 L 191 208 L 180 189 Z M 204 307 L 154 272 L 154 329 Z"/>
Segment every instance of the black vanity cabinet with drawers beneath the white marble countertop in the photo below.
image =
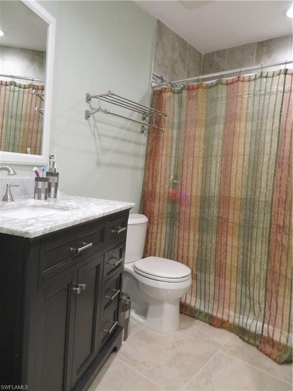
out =
<path fill-rule="evenodd" d="M 0 234 L 1 384 L 86 389 L 120 348 L 128 213 L 33 239 Z"/>

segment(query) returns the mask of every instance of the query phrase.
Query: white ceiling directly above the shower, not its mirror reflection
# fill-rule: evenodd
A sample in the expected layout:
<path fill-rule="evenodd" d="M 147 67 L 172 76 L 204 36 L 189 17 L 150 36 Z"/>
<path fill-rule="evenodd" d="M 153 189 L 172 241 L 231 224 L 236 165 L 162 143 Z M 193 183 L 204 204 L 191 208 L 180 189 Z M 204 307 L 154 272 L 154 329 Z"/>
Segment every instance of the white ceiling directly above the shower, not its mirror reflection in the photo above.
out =
<path fill-rule="evenodd" d="M 202 53 L 292 33 L 291 1 L 136 1 Z"/>

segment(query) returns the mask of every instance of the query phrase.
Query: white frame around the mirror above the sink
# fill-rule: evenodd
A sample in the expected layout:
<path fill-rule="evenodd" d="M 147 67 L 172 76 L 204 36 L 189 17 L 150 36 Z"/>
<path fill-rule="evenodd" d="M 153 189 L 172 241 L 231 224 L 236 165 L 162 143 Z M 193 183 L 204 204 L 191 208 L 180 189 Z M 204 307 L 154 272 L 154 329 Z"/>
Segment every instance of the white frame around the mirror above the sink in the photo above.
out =
<path fill-rule="evenodd" d="M 49 142 L 51 126 L 51 103 L 53 85 L 54 47 L 56 19 L 36 0 L 20 0 L 48 25 L 46 49 L 45 99 L 42 135 L 42 155 L 0 151 L 0 162 L 14 164 L 46 164 L 49 160 Z"/>

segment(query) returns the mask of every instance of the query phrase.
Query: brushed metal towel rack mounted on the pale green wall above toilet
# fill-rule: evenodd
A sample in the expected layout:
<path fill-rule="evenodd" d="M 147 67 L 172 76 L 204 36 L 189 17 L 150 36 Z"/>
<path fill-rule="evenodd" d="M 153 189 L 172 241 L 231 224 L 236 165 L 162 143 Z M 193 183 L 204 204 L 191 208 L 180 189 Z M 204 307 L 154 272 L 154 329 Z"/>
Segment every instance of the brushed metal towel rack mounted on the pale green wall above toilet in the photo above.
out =
<path fill-rule="evenodd" d="M 164 131 L 164 128 L 160 128 L 159 126 L 157 126 L 155 124 L 155 119 L 157 117 L 161 117 L 161 116 L 167 117 L 168 114 L 162 113 L 162 111 L 156 110 L 156 109 L 149 107 L 149 106 L 145 106 L 144 104 L 141 104 L 141 103 L 134 102 L 133 100 L 124 98 L 120 95 L 116 95 L 112 91 L 108 91 L 105 94 L 92 95 L 90 93 L 87 93 L 85 95 L 85 101 L 87 103 L 91 104 L 92 99 L 98 100 L 98 107 L 97 108 L 91 107 L 91 108 L 93 108 L 93 111 L 85 110 L 84 118 L 86 120 L 89 120 L 90 117 L 93 114 L 98 113 L 98 111 L 102 111 L 102 113 L 104 113 L 104 114 L 111 114 L 112 116 L 124 118 L 126 120 L 135 122 L 137 124 L 141 124 L 142 125 L 141 129 L 140 129 L 141 133 L 143 133 L 144 130 L 147 128 L 155 128 L 155 129 Z M 110 111 L 106 108 L 103 108 L 101 106 L 101 101 L 106 102 L 106 103 L 111 103 L 115 106 L 120 106 L 125 109 L 134 111 L 135 113 L 141 114 L 142 121 L 134 120 L 133 118 L 129 118 L 129 117 L 123 116 L 121 114 L 113 113 L 112 111 Z M 145 120 L 148 120 L 148 122 L 144 122 Z"/>

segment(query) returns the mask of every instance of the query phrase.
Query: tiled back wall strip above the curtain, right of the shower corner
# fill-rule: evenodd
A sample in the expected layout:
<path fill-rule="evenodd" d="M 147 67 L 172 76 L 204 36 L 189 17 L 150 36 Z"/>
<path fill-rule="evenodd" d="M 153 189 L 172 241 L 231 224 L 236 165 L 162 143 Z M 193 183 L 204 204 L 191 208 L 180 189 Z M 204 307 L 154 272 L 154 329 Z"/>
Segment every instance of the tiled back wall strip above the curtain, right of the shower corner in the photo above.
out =
<path fill-rule="evenodd" d="M 289 60 L 291 58 L 292 36 L 286 35 L 205 53 L 203 54 L 201 74 Z"/>

